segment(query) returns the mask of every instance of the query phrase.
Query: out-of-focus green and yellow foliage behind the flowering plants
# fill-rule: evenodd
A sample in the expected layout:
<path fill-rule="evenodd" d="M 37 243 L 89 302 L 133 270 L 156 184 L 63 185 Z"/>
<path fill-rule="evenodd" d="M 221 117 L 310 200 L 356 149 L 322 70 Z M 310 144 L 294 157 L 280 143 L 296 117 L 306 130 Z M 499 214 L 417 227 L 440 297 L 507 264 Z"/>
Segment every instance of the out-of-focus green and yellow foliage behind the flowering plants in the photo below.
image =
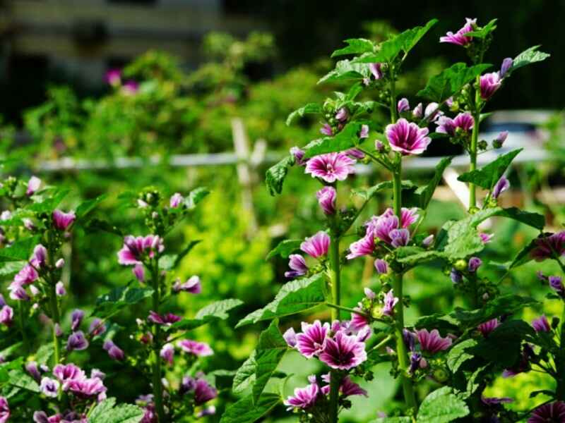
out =
<path fill-rule="evenodd" d="M 147 185 L 156 186 L 165 195 L 186 193 L 200 185 L 210 188 L 211 194 L 196 209 L 193 219 L 169 235 L 166 242 L 169 252 L 178 252 L 190 240 L 201 240 L 189 257 L 182 261 L 178 276 L 182 279 L 192 274 L 201 276 L 203 294 L 179 299 L 178 304 L 172 305 L 173 312 L 191 316 L 203 305 L 219 298 L 240 298 L 245 302 L 230 321 L 203 327 L 191 335 L 207 341 L 215 350 L 216 354 L 205 362 L 207 370 L 237 369 L 253 350 L 260 328 L 246 326 L 234 331 L 232 327 L 244 314 L 270 301 L 281 284 L 285 283 L 283 274 L 287 263 L 283 259 L 266 262 L 268 251 L 284 238 L 304 238 L 322 228 L 321 212 L 314 197 L 318 188 L 316 181 L 295 168 L 287 178 L 283 195 L 270 197 L 261 182 L 266 165 L 258 166 L 255 170 L 258 177 L 250 188 L 254 214 L 250 216 L 249 209 L 242 205 L 244 188 L 237 183 L 234 166 L 172 168 L 165 164 L 144 162 L 140 168 L 109 167 L 97 171 L 41 172 L 38 169 L 45 160 L 65 157 L 108 160 L 140 157 L 147 160 L 172 154 L 230 152 L 234 148 L 232 118 L 242 118 L 250 140 L 266 140 L 268 152 L 285 152 L 293 145 L 306 144 L 316 137 L 319 130 L 319 123 L 311 118 L 304 118 L 298 125 L 289 127 L 285 125 L 287 114 L 307 102 L 321 102 L 331 91 L 343 88 L 339 85 L 316 85 L 320 76 L 332 66 L 331 60 L 319 57 L 328 56 L 328 51 L 338 47 L 343 38 L 363 35 L 383 39 L 395 31 L 387 20 L 359 24 L 359 13 L 362 16 L 380 13 L 379 16 L 383 18 L 394 16 L 390 21 L 399 28 L 438 17 L 441 28 L 436 29 L 434 35 L 445 30 L 456 30 L 463 22 L 458 10 L 460 5 L 441 2 L 439 7 L 440 2 L 437 1 L 420 2 L 418 13 L 405 13 L 408 6 L 400 2 L 387 4 L 386 11 L 382 5 L 377 6 L 369 1 L 357 1 L 351 8 L 343 6 L 343 2 L 339 2 L 339 6 L 337 2 L 328 2 L 326 7 L 316 7 L 315 11 L 309 9 L 314 6 L 304 4 L 308 13 L 304 13 L 304 8 L 287 7 L 287 1 L 275 0 L 270 3 L 280 7 L 269 7 L 265 11 L 253 1 L 242 1 L 240 6 L 244 9 L 249 7 L 251 14 L 263 13 L 267 16 L 273 22 L 273 33 L 251 32 L 243 38 L 226 33 L 210 33 L 202 43 L 203 54 L 208 59 L 194 70 L 187 71 L 179 59 L 165 52 L 148 51 L 125 66 L 121 81 L 109 85 L 101 95 L 85 97 L 69 85 L 49 83 L 44 87 L 44 101 L 22 111 L 20 121 L 1 121 L 3 141 L 0 143 L 0 152 L 6 159 L 5 173 L 23 177 L 35 173 L 50 184 L 68 186 L 72 190 L 69 203 L 64 204 L 68 208 L 76 207 L 82 198 L 93 198 L 106 192 L 109 197 L 97 213 L 124 233 L 143 233 L 143 222 L 133 208 L 131 196 L 124 196 L 124 192 L 135 195 Z M 564 6 L 551 3 L 555 6 L 552 18 L 564 16 Z M 544 42 L 550 35 L 554 37 L 555 28 L 552 25 L 540 25 L 543 21 L 541 16 L 545 16 L 540 15 L 544 9 L 542 4 L 546 3 L 531 1 L 521 4 L 513 9 L 511 18 L 508 6 L 504 3 L 489 3 L 483 8 L 471 4 L 466 13 L 477 15 L 480 21 L 501 18 L 501 30 L 497 30 L 496 44 L 490 52 L 499 61 L 529 46 L 531 39 Z M 282 11 L 285 13 L 284 19 L 280 16 Z M 336 21 L 335 16 L 340 16 L 340 20 Z M 283 20 L 286 26 L 279 25 Z M 352 25 L 354 21 L 356 24 Z M 289 22 L 292 25 L 288 25 Z M 331 31 L 328 30 L 329 25 L 332 25 Z M 530 31 L 524 33 L 524 27 Z M 534 31 L 535 37 L 530 37 Z M 562 43 L 562 39 L 552 38 L 549 52 L 555 56 L 563 54 L 564 49 L 559 49 Z M 438 50 L 439 55 L 436 54 Z M 453 61 L 446 58 L 453 54 L 457 52 L 439 46 L 436 39 L 422 42 L 410 58 L 408 73 L 398 82 L 400 92 L 414 98 L 415 92 L 424 86 L 429 76 L 438 73 L 450 60 Z M 464 58 L 458 57 L 456 60 Z M 549 72 L 550 62 L 554 63 L 553 66 L 561 63 L 559 58 L 552 59 L 547 64 L 521 73 L 521 79 L 513 80 L 512 87 L 503 90 L 494 106 L 562 106 L 563 96 L 559 97 L 560 92 L 563 94 L 561 72 Z M 128 85 L 130 80 L 136 82 L 133 90 Z M 549 86 L 555 88 L 543 88 Z M 559 114 L 547 123 L 545 129 L 552 135 L 548 148 L 556 152 L 556 161 L 544 166 L 523 166 L 520 171 L 528 181 L 523 189 L 538 192 L 545 187 L 551 191 L 550 186 L 561 180 L 562 171 L 559 169 L 565 159 L 561 142 L 562 126 L 562 116 Z M 432 153 L 434 149 L 445 153 L 448 146 L 438 145 L 432 149 Z M 417 173 L 410 177 L 417 181 L 425 180 L 428 175 Z M 370 176 L 352 178 L 351 183 L 361 187 L 379 180 L 376 171 Z M 519 176 L 514 174 L 512 180 L 518 181 Z M 516 188 L 518 185 L 513 183 Z M 347 199 L 345 192 L 340 193 L 340 199 L 355 201 Z M 387 193 L 375 198 L 359 222 L 381 212 L 389 203 L 388 200 Z M 523 199 L 516 196 L 508 201 L 523 203 Z M 529 205 L 546 212 L 555 226 L 559 226 L 563 219 L 562 207 L 545 209 L 539 200 Z M 458 219 L 463 214 L 462 207 L 454 201 L 434 200 L 423 229 L 434 233 L 447 219 Z M 252 220 L 256 221 L 257 228 L 250 232 Z M 489 244 L 483 255 L 488 266 L 483 266 L 481 271 L 500 280 L 500 289 L 505 293 L 516 292 L 542 300 L 545 292 L 540 289 L 535 271 L 557 271 L 551 263 L 541 266 L 526 264 L 511 275 L 504 275 L 498 266 L 509 261 L 536 234 L 507 221 L 496 222 L 495 228 L 494 242 Z M 97 295 L 131 280 L 130 269 L 117 264 L 120 236 L 102 231 L 90 234 L 76 231 L 71 245 L 68 257 L 71 272 L 68 278 L 72 295 L 67 309 L 88 309 Z M 371 262 L 363 262 L 362 259 L 347 266 L 344 280 L 347 281 L 344 284 L 345 305 L 350 307 L 355 306 L 362 286 L 377 283 Z M 412 299 L 408 309 L 409 324 L 417 316 L 446 312 L 465 300 L 454 294 L 449 277 L 437 263 L 410 272 L 406 286 Z M 556 312 L 551 302 L 546 302 L 545 307 L 543 311 L 547 314 Z M 526 310 L 525 314 L 532 319 L 541 311 Z M 129 317 L 126 312 L 119 319 L 126 322 Z M 325 312 L 314 314 L 314 317 L 328 318 Z M 297 327 L 299 321 L 301 316 L 287 319 L 282 329 L 290 325 Z M 119 334 L 119 345 L 125 347 L 128 342 L 126 333 Z M 111 363 L 100 364 L 102 370 L 110 374 L 119 371 L 113 366 Z M 315 364 L 298 354 L 289 354 L 281 370 L 294 374 L 285 385 L 285 393 L 288 394 L 295 386 L 304 385 L 306 376 L 315 372 L 316 368 Z M 377 411 L 393 410 L 399 398 L 396 381 L 388 374 L 386 364 L 379 364 L 374 371 L 375 381 L 364 383 L 371 399 L 353 400 L 354 406 L 347 412 L 344 421 L 364 422 L 374 418 Z M 123 393 L 124 398 L 121 399 L 129 401 L 134 399 L 132 396 L 136 392 L 131 387 L 132 380 L 136 380 L 133 372 L 130 376 L 111 379 L 114 393 Z M 144 381 L 138 383 L 141 386 Z M 539 403 L 542 398 L 528 398 L 528 386 L 543 389 L 547 388 L 548 383 L 533 373 L 513 379 L 499 378 L 492 386 L 492 394 L 516 398 L 511 407 L 524 410 Z M 429 381 L 429 386 L 433 384 L 433 381 Z M 425 396 L 424 391 L 420 394 L 422 398 Z M 229 387 L 222 390 L 221 397 L 233 399 Z M 225 407 L 225 401 L 218 402 L 218 415 L 210 419 L 218 419 L 222 407 Z M 292 421 L 283 407 L 278 407 L 268 419 Z"/>

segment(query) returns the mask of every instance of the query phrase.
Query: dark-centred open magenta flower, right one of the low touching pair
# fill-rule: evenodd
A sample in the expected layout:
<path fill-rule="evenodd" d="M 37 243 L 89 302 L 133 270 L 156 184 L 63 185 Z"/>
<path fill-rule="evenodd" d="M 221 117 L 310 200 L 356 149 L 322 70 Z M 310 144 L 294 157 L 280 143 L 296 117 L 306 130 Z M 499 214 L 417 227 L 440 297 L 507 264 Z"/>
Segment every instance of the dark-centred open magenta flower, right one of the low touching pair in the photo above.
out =
<path fill-rule="evenodd" d="M 357 336 L 347 336 L 343 331 L 326 338 L 320 361 L 332 369 L 349 370 L 367 360 L 365 344 Z"/>

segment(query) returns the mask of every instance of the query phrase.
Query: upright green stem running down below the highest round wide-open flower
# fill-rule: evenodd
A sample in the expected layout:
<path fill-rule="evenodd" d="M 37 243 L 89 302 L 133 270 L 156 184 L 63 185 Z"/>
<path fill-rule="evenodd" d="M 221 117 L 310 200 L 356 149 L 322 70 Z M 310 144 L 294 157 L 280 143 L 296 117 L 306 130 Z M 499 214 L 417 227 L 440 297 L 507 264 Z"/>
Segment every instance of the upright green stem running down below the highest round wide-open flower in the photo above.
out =
<path fill-rule="evenodd" d="M 393 173 L 393 195 L 394 213 L 398 216 L 398 221 L 402 221 L 402 156 L 397 153 L 396 171 Z M 396 353 L 398 355 L 398 369 L 400 370 L 400 380 L 402 381 L 405 404 L 416 412 L 417 403 L 414 393 L 412 380 L 406 375 L 410 362 L 408 351 L 404 343 L 404 305 L 403 305 L 403 274 L 393 275 L 393 292 L 399 299 L 395 309 L 394 336 L 396 338 Z"/>

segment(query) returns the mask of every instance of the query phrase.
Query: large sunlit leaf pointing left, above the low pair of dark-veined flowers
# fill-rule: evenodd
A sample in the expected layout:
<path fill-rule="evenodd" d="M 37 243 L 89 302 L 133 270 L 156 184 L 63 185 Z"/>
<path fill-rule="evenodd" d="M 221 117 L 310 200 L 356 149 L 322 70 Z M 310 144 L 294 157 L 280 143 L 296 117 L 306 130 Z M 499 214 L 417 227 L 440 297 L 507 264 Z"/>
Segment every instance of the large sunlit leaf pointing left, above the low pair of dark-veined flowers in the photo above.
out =
<path fill-rule="evenodd" d="M 236 328 L 254 324 L 261 320 L 288 316 L 317 307 L 326 301 L 326 279 L 323 274 L 287 282 L 275 299 L 262 309 L 248 314 L 240 320 Z"/>

